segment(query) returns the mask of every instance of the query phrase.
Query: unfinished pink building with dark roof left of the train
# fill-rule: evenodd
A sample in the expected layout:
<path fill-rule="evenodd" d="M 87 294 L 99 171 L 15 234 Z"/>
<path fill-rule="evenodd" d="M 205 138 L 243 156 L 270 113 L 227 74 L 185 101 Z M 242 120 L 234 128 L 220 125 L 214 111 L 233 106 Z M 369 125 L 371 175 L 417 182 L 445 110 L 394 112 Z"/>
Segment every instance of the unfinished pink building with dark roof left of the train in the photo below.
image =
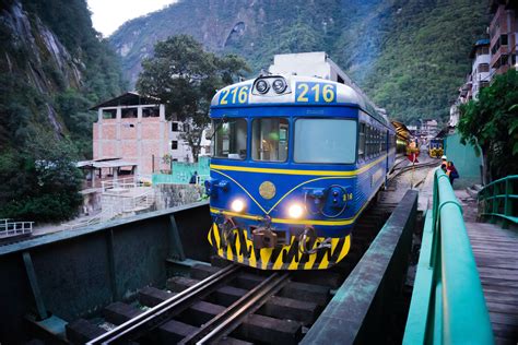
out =
<path fill-rule="evenodd" d="M 137 165 L 137 174 L 151 176 L 169 169 L 164 156 L 190 160 L 190 150 L 180 140 L 181 123 L 166 121 L 165 106 L 154 97 L 126 93 L 104 102 L 94 123 L 94 160 L 121 158 Z"/>

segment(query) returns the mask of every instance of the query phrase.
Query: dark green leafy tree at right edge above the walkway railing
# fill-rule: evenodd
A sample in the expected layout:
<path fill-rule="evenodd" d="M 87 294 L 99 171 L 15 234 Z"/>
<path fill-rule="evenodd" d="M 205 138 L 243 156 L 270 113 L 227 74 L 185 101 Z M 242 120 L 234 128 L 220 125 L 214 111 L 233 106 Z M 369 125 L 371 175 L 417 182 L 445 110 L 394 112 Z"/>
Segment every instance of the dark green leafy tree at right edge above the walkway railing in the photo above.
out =
<path fill-rule="evenodd" d="M 460 114 L 462 142 L 482 150 L 486 180 L 518 174 L 518 72 L 496 76 Z"/>

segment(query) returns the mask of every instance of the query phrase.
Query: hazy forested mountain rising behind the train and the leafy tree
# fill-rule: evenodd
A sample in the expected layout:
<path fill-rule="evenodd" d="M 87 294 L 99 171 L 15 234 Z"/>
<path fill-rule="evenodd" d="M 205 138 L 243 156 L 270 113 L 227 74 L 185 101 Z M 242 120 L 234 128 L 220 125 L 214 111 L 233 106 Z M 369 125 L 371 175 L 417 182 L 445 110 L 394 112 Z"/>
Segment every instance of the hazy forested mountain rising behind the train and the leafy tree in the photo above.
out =
<path fill-rule="evenodd" d="M 325 50 L 391 117 L 411 121 L 447 117 L 487 25 L 487 0 L 184 0 L 109 41 L 131 84 L 154 44 L 176 34 L 243 56 L 252 74 L 275 53 Z"/>

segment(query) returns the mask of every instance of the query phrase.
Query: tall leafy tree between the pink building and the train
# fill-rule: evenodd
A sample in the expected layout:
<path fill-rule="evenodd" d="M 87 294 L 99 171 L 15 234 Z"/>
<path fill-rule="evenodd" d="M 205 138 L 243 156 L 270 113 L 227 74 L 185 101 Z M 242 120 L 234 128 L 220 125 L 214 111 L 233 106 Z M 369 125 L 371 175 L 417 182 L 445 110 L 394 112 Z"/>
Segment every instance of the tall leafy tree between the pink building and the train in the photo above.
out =
<path fill-rule="evenodd" d="M 202 132 L 209 124 L 209 108 L 216 90 L 249 71 L 235 56 L 217 57 L 203 50 L 187 35 L 168 37 L 154 47 L 154 56 L 142 61 L 137 81 L 141 94 L 155 96 L 166 105 L 167 118 L 185 122 L 183 139 L 198 160 Z"/>

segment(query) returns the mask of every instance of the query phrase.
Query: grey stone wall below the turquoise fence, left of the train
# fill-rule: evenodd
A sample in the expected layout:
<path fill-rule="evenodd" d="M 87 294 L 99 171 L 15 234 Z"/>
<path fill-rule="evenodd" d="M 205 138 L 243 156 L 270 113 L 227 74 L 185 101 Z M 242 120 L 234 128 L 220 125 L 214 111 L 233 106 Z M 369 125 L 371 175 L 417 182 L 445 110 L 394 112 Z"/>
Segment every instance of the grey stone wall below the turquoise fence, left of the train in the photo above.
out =
<path fill-rule="evenodd" d="M 204 188 L 199 185 L 155 185 L 155 207 L 165 210 L 199 201 Z"/>

